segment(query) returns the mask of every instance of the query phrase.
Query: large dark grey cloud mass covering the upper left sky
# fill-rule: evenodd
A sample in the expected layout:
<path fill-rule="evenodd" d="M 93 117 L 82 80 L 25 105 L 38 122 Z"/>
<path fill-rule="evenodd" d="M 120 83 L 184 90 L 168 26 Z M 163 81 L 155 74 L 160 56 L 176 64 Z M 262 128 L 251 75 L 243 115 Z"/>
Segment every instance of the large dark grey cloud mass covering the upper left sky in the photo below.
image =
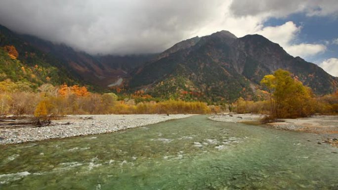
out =
<path fill-rule="evenodd" d="M 1 0 L 0 24 L 89 53 L 160 52 L 213 19 L 222 0 Z"/>

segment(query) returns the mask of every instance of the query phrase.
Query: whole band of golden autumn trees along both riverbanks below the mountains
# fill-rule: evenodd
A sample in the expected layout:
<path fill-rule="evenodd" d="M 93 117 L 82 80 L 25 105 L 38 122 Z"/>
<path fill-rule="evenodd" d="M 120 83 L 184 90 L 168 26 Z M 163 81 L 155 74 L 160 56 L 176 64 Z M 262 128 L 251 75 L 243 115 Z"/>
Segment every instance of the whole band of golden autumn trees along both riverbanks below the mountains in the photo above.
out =
<path fill-rule="evenodd" d="M 338 114 L 338 92 L 315 96 L 311 89 L 284 70 L 261 80 L 262 100 L 243 98 L 230 104 L 237 113 L 267 114 L 270 118 L 296 118 L 311 114 Z M 123 97 L 123 99 L 121 99 Z M 224 106 L 223 106 L 224 107 Z M 222 106 L 203 102 L 160 100 L 144 91 L 118 97 L 114 93 L 93 93 L 86 87 L 44 83 L 33 89 L 25 81 L 0 81 L 0 115 L 34 114 L 37 117 L 67 114 L 208 114 L 224 112 Z"/>

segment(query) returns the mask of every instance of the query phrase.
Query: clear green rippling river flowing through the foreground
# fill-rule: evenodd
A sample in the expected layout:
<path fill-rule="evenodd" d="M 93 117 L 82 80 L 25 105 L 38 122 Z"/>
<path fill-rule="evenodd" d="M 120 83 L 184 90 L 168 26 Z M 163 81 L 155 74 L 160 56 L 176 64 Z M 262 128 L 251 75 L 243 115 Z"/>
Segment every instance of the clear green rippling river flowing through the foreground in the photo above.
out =
<path fill-rule="evenodd" d="M 207 119 L 0 146 L 0 190 L 338 190 L 316 134 Z"/>

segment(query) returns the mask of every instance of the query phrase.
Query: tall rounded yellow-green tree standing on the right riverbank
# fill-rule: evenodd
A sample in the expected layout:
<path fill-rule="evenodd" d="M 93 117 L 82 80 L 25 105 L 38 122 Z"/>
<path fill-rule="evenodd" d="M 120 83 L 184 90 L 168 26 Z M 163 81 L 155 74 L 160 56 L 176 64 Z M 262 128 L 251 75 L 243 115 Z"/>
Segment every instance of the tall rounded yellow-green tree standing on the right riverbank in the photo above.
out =
<path fill-rule="evenodd" d="M 260 83 L 267 88 L 270 97 L 270 116 L 295 118 L 314 112 L 311 90 L 291 77 L 288 71 L 277 70 L 264 76 Z"/>

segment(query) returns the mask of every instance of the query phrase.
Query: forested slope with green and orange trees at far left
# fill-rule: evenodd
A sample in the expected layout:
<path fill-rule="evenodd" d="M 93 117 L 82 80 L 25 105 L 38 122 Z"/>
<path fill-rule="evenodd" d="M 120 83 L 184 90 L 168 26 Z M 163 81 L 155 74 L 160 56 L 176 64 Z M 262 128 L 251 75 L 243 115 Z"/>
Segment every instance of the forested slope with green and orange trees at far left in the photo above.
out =
<path fill-rule="evenodd" d="M 18 55 L 9 56 L 3 49 L 5 46 L 15 49 Z M 54 85 L 82 83 L 82 78 L 55 56 L 40 51 L 1 25 L 0 47 L 1 80 L 28 82 L 34 88 L 47 82 Z"/>

